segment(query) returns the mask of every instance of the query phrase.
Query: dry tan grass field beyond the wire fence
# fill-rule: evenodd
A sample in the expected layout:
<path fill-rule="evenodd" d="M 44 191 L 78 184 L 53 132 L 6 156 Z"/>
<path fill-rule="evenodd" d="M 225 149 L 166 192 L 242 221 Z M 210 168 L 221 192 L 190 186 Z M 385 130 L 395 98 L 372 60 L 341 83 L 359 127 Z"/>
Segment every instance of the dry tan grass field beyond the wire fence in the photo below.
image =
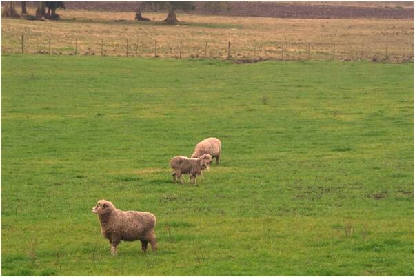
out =
<path fill-rule="evenodd" d="M 411 8 L 402 8 L 402 10 Z M 29 9 L 34 14 L 33 9 Z M 178 13 L 180 25 L 161 23 L 166 14 L 58 10 L 60 21 L 1 19 L 1 51 L 238 60 L 413 61 L 414 20 L 281 19 Z M 102 44 L 101 44 L 102 43 Z M 102 47 L 102 48 L 101 48 Z M 154 53 L 156 52 L 156 53 Z"/>

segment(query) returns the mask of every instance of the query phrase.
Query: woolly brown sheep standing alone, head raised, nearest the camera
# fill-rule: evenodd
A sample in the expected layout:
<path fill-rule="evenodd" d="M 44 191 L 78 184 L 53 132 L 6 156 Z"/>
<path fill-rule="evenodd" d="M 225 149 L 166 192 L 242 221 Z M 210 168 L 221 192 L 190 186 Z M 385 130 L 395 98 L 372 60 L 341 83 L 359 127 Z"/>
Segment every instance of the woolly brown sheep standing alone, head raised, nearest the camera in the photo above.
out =
<path fill-rule="evenodd" d="M 156 216 L 149 212 L 123 212 L 116 209 L 110 201 L 100 200 L 92 209 L 98 215 L 101 232 L 104 238 L 110 240 L 111 254 L 117 254 L 117 245 L 121 240 L 141 240 L 141 250 L 147 250 L 148 243 L 153 251 L 157 249 L 154 226 Z"/>

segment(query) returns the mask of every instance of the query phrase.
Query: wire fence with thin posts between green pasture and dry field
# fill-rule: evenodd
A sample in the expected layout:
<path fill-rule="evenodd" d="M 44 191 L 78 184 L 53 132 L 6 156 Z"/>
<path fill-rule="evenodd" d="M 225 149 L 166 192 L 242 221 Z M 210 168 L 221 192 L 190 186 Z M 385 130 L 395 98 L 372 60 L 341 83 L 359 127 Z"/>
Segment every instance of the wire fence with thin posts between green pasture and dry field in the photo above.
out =
<path fill-rule="evenodd" d="M 307 41 L 158 41 L 154 38 L 90 39 L 28 35 L 2 40 L 2 53 L 97 55 L 120 57 L 170 57 L 178 59 L 232 59 L 234 61 L 383 61 L 400 63 L 414 61 L 414 44 L 366 43 L 344 45 Z"/>

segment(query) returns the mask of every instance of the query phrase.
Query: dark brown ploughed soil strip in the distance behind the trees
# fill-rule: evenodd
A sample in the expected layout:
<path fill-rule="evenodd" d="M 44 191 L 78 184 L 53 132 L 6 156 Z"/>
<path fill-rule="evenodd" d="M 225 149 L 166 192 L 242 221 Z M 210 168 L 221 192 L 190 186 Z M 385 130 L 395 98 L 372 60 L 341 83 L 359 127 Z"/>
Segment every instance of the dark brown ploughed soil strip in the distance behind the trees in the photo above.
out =
<path fill-rule="evenodd" d="M 386 3 L 386 5 L 385 5 Z M 347 19 L 347 18 L 390 18 L 413 19 L 414 6 L 410 2 L 382 2 L 379 6 L 351 6 L 350 3 L 336 4 L 327 2 L 262 2 L 234 1 L 229 11 L 219 12 L 218 15 L 242 17 L 275 17 L 293 19 Z M 105 10 L 114 12 L 134 11 L 139 1 L 66 1 L 70 9 Z M 358 5 L 356 3 L 356 5 Z M 196 1 L 194 14 L 212 14 L 205 10 L 202 1 Z"/>

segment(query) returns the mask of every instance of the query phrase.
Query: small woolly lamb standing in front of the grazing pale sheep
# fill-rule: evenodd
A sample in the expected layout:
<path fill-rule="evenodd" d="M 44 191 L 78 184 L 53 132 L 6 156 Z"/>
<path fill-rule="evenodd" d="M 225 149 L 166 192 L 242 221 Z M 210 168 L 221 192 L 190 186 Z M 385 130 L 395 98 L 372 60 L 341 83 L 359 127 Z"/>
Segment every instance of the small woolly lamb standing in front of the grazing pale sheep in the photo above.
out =
<path fill-rule="evenodd" d="M 212 156 L 210 154 L 204 154 L 199 158 L 188 158 L 185 156 L 175 156 L 170 161 L 170 167 L 174 169 L 173 182 L 176 183 L 177 179 L 183 185 L 182 174 L 189 174 L 190 181 L 196 183 L 196 176 L 201 172 L 209 168 L 209 164 L 212 163 Z"/>

